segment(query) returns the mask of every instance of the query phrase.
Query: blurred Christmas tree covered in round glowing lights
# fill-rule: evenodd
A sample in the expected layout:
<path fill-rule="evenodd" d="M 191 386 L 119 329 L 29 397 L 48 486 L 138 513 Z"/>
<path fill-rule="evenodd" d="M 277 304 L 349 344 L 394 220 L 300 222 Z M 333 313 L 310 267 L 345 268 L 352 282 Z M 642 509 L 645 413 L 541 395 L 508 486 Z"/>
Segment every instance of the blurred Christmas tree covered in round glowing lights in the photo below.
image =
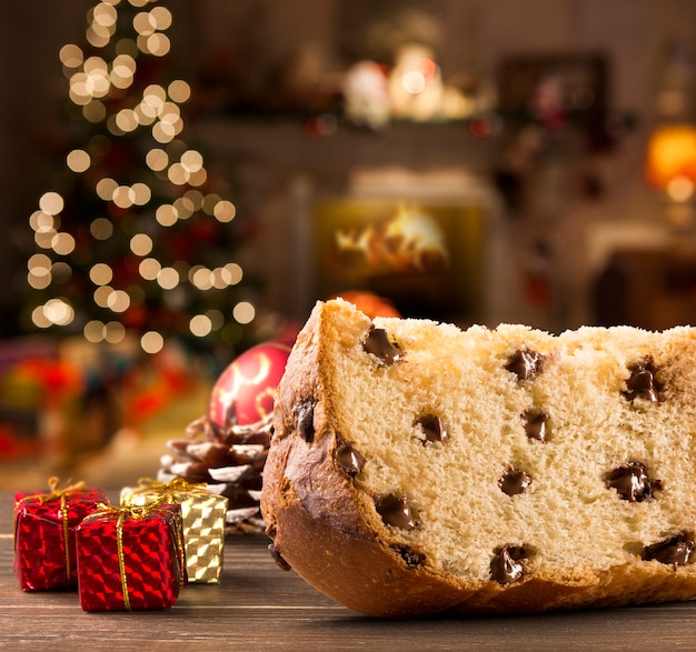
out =
<path fill-rule="evenodd" d="M 183 140 L 190 86 L 167 79 L 171 11 L 102 0 L 86 43 L 66 44 L 71 147 L 31 215 L 33 327 L 156 353 L 168 338 L 243 348 L 252 283 L 232 251 L 243 237 L 228 183 Z M 72 146 L 72 142 L 77 143 Z"/>

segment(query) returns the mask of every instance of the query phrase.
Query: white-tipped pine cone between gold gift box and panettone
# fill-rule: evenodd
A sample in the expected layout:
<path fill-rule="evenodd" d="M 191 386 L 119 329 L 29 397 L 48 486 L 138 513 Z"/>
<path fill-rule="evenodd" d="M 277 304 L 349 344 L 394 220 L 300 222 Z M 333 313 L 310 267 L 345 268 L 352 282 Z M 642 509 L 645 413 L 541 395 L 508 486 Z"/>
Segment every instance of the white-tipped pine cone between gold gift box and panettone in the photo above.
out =
<path fill-rule="evenodd" d="M 186 429 L 186 439 L 167 442 L 170 453 L 162 455 L 160 482 L 182 478 L 206 482 L 208 490 L 229 500 L 228 534 L 258 534 L 265 530 L 259 501 L 264 464 L 272 431 L 271 415 L 249 425 L 238 425 L 233 407 L 225 427 L 203 415 Z"/>

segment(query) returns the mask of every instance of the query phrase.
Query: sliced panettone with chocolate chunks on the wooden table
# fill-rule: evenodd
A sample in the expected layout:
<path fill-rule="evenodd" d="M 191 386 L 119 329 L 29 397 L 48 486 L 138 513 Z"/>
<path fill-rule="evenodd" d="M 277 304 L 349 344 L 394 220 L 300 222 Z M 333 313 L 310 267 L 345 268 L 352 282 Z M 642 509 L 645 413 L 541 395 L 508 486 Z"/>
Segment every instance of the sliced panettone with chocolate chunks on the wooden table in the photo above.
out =
<path fill-rule="evenodd" d="M 558 337 L 319 302 L 275 408 L 271 551 L 382 616 L 696 596 L 696 330 Z"/>

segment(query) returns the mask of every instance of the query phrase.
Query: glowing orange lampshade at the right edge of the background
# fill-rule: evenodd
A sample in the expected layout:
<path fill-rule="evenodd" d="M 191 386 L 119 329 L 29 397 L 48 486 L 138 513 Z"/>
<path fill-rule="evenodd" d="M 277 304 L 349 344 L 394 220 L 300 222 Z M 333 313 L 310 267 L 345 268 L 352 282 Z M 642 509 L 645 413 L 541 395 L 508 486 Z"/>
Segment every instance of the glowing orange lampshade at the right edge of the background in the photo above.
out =
<path fill-rule="evenodd" d="M 696 182 L 696 127 L 663 126 L 650 137 L 646 177 L 649 183 L 670 193 Z M 676 181 L 676 183 L 675 183 Z"/>

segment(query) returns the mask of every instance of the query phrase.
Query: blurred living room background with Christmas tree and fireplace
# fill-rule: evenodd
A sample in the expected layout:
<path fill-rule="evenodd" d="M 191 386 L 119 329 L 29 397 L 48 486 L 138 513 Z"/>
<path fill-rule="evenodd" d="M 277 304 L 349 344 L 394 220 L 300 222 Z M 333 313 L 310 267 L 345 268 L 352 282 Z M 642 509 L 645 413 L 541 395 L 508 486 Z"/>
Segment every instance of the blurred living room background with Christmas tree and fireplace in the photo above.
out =
<path fill-rule="evenodd" d="M 34 0 L 0 32 L 3 489 L 155 475 L 335 294 L 696 321 L 693 0 Z"/>

